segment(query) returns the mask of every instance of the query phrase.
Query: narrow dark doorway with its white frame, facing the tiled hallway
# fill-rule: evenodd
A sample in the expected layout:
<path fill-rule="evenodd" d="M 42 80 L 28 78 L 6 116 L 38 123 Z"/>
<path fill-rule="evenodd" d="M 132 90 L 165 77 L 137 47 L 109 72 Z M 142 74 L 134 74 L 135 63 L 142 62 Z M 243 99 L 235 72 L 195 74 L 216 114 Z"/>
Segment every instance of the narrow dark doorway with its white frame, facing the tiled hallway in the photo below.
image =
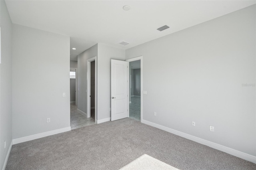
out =
<path fill-rule="evenodd" d="M 97 58 L 87 60 L 87 118 L 97 119 Z"/>

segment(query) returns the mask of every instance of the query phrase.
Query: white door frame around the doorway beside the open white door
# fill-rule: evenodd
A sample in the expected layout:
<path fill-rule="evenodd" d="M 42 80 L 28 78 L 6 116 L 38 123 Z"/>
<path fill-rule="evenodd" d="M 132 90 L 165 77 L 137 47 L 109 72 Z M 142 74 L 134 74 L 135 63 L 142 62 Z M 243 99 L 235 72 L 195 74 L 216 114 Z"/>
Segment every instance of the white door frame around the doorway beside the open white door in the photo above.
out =
<path fill-rule="evenodd" d="M 128 61 L 128 94 L 130 95 L 130 62 L 140 60 L 140 122 L 143 120 L 143 67 L 142 56 L 126 59 Z M 130 96 L 129 96 L 130 98 Z M 130 106 L 130 100 L 128 100 L 128 106 Z M 128 107 L 128 117 L 130 117 L 130 107 Z"/>

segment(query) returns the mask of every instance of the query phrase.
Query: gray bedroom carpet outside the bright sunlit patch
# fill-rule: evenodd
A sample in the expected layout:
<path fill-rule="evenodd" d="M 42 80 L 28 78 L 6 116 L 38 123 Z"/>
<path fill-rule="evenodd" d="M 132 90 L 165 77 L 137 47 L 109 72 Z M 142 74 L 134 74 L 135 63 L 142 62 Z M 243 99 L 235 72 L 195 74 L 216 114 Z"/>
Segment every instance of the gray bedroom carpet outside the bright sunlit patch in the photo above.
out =
<path fill-rule="evenodd" d="M 117 170 L 147 154 L 180 170 L 255 170 L 256 164 L 130 118 L 15 144 L 7 170 Z"/>

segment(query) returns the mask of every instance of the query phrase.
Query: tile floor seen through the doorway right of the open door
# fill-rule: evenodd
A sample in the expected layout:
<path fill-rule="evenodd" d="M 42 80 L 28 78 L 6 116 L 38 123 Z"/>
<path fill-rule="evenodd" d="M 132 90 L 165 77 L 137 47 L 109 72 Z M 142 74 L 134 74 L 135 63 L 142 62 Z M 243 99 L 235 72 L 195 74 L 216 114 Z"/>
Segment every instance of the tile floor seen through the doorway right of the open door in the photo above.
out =
<path fill-rule="evenodd" d="M 140 121 L 140 97 L 131 97 L 131 102 L 129 104 L 130 118 L 136 121 Z"/>

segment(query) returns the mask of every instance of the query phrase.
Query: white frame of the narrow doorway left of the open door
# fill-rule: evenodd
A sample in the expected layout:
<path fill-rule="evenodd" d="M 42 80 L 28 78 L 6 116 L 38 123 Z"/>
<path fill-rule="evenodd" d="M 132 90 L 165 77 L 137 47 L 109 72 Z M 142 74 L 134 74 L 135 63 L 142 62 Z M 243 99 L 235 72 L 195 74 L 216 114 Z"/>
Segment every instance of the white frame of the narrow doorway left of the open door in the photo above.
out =
<path fill-rule="evenodd" d="M 86 95 L 87 95 L 87 118 L 91 117 L 91 100 L 90 100 L 90 93 L 91 93 L 91 62 L 95 61 L 95 116 L 94 120 L 95 123 L 97 123 L 97 110 L 98 110 L 98 105 L 97 105 L 97 94 L 98 94 L 98 88 L 97 88 L 97 57 L 92 57 L 90 59 L 87 59 L 87 89 L 86 89 Z"/>

